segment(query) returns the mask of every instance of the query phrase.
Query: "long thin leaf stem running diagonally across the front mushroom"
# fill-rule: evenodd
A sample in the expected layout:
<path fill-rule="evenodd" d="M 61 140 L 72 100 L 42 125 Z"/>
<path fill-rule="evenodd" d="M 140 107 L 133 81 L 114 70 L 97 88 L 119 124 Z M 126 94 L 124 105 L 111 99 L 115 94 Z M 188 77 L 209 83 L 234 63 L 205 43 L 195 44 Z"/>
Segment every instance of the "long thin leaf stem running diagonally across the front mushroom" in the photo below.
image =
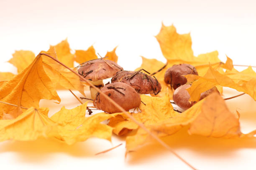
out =
<path fill-rule="evenodd" d="M 63 64 L 62 62 L 60 62 L 59 60 L 57 60 L 54 57 L 51 57 L 51 55 L 48 55 L 46 53 L 39 53 L 39 55 L 46 55 L 47 57 L 50 57 L 52 60 L 58 62 L 60 65 L 63 65 L 64 67 L 66 67 L 67 69 L 69 69 L 71 72 L 73 72 L 74 74 L 76 74 L 77 76 L 79 76 L 82 80 L 84 80 L 85 82 L 87 82 L 90 86 L 92 86 L 93 88 L 95 88 L 95 90 L 97 90 L 97 92 L 99 92 L 101 95 L 103 95 L 105 98 L 107 98 L 109 100 L 110 103 L 112 103 L 115 107 L 117 107 L 121 112 L 124 112 L 124 114 L 129 117 L 131 120 L 133 120 L 133 122 L 135 122 L 138 126 L 140 126 L 143 130 L 146 131 L 146 133 L 148 133 L 148 135 L 151 135 L 152 138 L 154 138 L 157 142 L 159 142 L 162 146 L 164 146 L 166 149 L 168 149 L 171 153 L 173 153 L 177 158 L 179 158 L 179 160 L 181 160 L 183 163 L 185 163 L 186 165 L 188 165 L 190 168 L 192 168 L 193 170 L 196 170 L 196 168 L 194 168 L 192 165 L 190 165 L 186 160 L 184 160 L 182 157 L 180 157 L 177 153 L 175 153 L 172 148 L 167 145 L 166 143 L 164 143 L 163 140 L 161 140 L 156 134 L 152 133 L 150 130 L 148 130 L 145 125 L 143 125 L 143 123 L 138 122 L 138 120 L 136 120 L 133 116 L 131 116 L 126 110 L 123 109 L 123 107 L 121 107 L 120 105 L 118 105 L 113 99 L 111 99 L 110 97 L 108 97 L 108 95 L 106 95 L 105 93 L 101 92 L 99 88 L 97 88 L 95 85 L 93 85 L 90 81 L 86 80 L 84 77 L 82 77 L 81 75 L 79 75 L 77 72 L 74 72 L 74 70 L 70 69 L 68 66 L 66 66 L 65 64 Z"/>

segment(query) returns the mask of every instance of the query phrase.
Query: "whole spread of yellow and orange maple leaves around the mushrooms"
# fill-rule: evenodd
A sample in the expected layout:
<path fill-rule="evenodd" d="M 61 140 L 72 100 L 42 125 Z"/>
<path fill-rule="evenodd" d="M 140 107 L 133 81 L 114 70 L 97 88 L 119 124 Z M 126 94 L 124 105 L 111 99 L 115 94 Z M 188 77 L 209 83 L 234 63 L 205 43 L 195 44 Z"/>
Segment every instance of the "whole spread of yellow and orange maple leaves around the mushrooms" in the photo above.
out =
<path fill-rule="evenodd" d="M 193 55 L 192 41 L 189 34 L 180 35 L 175 27 L 162 25 L 156 35 L 166 63 L 156 59 L 142 57 L 139 69 L 154 73 L 161 83 L 162 90 L 157 95 L 141 95 L 144 104 L 140 112 L 113 113 L 105 112 L 85 117 L 88 114 L 87 102 L 71 110 L 61 108 L 48 117 L 49 108 L 39 107 L 41 99 L 61 102 L 57 89 L 78 90 L 84 95 L 84 84 L 72 71 L 77 72 L 74 61 L 81 64 L 97 59 L 93 46 L 87 50 L 71 49 L 67 40 L 51 46 L 35 56 L 31 51 L 15 51 L 9 60 L 18 69 L 18 74 L 0 72 L 0 141 L 29 141 L 37 138 L 56 138 L 72 145 L 91 137 L 110 140 L 115 135 L 126 136 L 127 152 L 136 150 L 141 145 L 152 141 L 152 134 L 161 138 L 172 135 L 188 127 L 190 135 L 197 134 L 215 138 L 254 138 L 255 132 L 243 134 L 240 131 L 239 113 L 228 110 L 225 100 L 212 94 L 199 100 L 200 93 L 217 87 L 230 87 L 250 95 L 256 100 L 256 72 L 251 67 L 239 72 L 227 57 L 224 63 L 218 58 L 218 52 Z M 115 50 L 107 52 L 108 60 L 118 61 Z M 67 67 L 64 67 L 54 57 Z M 186 75 L 192 86 L 187 89 L 191 101 L 198 101 L 188 110 L 176 112 L 170 103 L 173 90 L 164 82 L 165 71 L 175 64 L 187 63 L 196 67 L 198 75 Z M 159 71 L 160 70 L 160 71 Z M 131 120 L 131 116 L 138 122 Z M 108 124 L 102 124 L 109 120 Z M 141 128 L 141 124 L 147 131 Z"/>

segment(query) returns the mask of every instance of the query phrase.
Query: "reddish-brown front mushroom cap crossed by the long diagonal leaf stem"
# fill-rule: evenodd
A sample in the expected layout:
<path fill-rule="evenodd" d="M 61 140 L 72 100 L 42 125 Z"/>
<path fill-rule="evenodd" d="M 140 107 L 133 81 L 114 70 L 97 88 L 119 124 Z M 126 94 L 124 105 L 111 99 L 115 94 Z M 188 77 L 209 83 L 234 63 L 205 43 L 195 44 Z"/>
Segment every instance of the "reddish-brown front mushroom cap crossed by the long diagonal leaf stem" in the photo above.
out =
<path fill-rule="evenodd" d="M 141 104 L 141 97 L 138 92 L 136 92 L 133 87 L 123 82 L 110 83 L 102 87 L 100 91 L 108 95 L 108 97 L 117 102 L 118 105 L 123 107 L 126 111 L 138 107 Z M 115 107 L 115 105 L 109 102 L 109 100 L 100 93 L 97 93 L 97 96 L 93 101 L 93 105 L 97 109 L 103 110 L 105 112 L 121 112 L 117 107 Z"/>

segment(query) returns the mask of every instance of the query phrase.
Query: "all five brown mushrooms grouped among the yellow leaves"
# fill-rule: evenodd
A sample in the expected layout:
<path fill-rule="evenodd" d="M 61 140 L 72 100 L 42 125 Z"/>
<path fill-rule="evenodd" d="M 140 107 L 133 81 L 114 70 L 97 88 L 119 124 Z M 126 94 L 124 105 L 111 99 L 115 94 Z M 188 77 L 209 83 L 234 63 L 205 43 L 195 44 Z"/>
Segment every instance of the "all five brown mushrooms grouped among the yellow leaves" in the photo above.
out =
<path fill-rule="evenodd" d="M 161 90 L 161 84 L 156 77 L 141 72 L 143 69 L 125 71 L 115 62 L 104 58 L 84 62 L 78 67 L 80 75 L 127 111 L 139 107 L 142 102 L 140 94 L 157 95 Z M 182 76 L 187 74 L 198 75 L 195 67 L 188 64 L 173 65 L 164 75 L 164 81 L 175 89 L 173 94 L 175 104 L 184 110 L 195 104 L 195 102 L 189 102 L 190 96 L 186 89 L 190 85 L 186 84 L 187 79 Z M 104 85 L 102 80 L 111 77 L 111 83 L 108 82 Z M 216 90 L 216 88 L 212 88 L 202 93 L 200 100 Z M 98 110 L 108 113 L 120 112 L 115 105 L 110 103 L 103 95 L 100 95 L 94 88 L 90 87 L 90 92 L 93 105 Z"/>

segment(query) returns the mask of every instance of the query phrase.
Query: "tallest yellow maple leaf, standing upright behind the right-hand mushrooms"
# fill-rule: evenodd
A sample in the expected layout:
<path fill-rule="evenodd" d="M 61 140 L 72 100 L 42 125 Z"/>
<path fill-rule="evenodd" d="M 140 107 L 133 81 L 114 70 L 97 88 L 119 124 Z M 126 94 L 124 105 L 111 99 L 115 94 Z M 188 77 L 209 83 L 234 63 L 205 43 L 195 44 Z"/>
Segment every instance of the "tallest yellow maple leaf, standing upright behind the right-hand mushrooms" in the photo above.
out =
<path fill-rule="evenodd" d="M 190 34 L 178 34 L 173 25 L 169 27 L 162 25 L 159 34 L 156 35 L 156 39 L 158 40 L 162 53 L 167 60 L 166 67 L 154 75 L 162 86 L 161 92 L 159 92 L 159 94 L 156 96 L 164 96 L 166 92 L 169 92 L 172 98 L 174 90 L 170 87 L 170 85 L 167 85 L 164 82 L 164 74 L 169 67 L 172 67 L 172 65 L 182 63 L 193 65 L 196 67 L 200 76 L 206 74 L 210 65 L 218 69 L 220 72 L 223 72 L 222 68 L 220 67 L 222 62 L 218 58 L 217 51 L 201 54 L 195 57 L 191 47 L 192 41 Z M 142 64 L 138 69 L 143 68 L 152 74 L 161 69 L 163 66 L 164 63 L 161 61 L 142 57 Z M 218 86 L 218 89 L 220 92 L 222 92 L 222 87 Z"/>

